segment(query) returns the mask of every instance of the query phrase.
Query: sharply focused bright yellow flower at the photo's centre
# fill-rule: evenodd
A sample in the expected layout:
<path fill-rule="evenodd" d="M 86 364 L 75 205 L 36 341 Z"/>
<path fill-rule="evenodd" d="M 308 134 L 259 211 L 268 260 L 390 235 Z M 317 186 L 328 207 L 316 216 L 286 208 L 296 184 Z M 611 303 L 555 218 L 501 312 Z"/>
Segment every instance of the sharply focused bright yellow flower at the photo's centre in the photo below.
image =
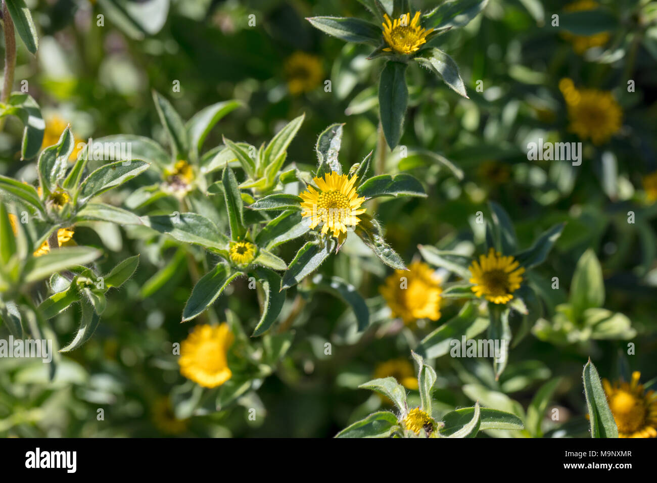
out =
<path fill-rule="evenodd" d="M 347 226 L 355 227 L 361 220 L 358 215 L 365 213 L 361 204 L 365 201 L 357 195 L 355 182 L 357 176 L 348 177 L 336 172 L 327 173 L 324 178 L 315 177 L 313 181 L 319 188 L 309 186 L 299 195 L 304 218 L 310 218 L 310 227 L 323 223 L 322 233 L 333 232 L 333 236 L 342 239 L 347 235 Z"/>

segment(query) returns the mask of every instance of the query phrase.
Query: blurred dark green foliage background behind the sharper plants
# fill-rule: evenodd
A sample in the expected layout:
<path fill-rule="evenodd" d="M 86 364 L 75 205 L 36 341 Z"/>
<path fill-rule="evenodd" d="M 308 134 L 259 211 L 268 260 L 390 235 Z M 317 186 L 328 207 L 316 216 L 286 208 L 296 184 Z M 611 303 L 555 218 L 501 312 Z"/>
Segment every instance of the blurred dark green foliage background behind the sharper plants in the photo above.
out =
<path fill-rule="evenodd" d="M 220 145 L 222 135 L 259 146 L 303 113 L 306 120 L 288 148 L 288 162 L 314 164 L 317 135 L 334 122 L 346 123 L 343 169 L 376 145 L 375 85 L 382 63 L 367 60 L 368 47 L 345 45 L 304 20 L 330 14 L 369 18 L 358 2 L 27 3 L 39 30 L 39 53 L 29 55 L 18 41 L 16 84 L 28 82 L 47 126 L 59 123 L 53 127 L 57 137 L 70 123 L 80 140 L 131 133 L 166 144 L 150 95 L 154 89 L 185 119 L 219 101 L 244 103 L 212 130 L 206 148 Z M 426 10 L 434 2 L 419 4 Z M 591 49 L 583 49 L 572 33 L 588 34 L 591 22 L 574 18 L 570 31 L 551 25 L 552 15 L 566 12 L 568 5 L 558 0 L 491 0 L 468 26 L 442 35 L 441 49 L 459 64 L 470 99 L 426 76 L 419 66 L 409 67 L 409 112 L 400 144 L 433 154 L 402 157 L 398 147 L 384 172 L 415 175 L 428 198 L 386 199 L 377 218 L 407 262 L 419 258 L 418 244 L 443 249 L 482 244 L 484 233 L 474 216 L 487 212 L 487 200 L 509 212 L 521 247 L 566 221 L 551 256 L 534 272 L 549 300 L 543 317 L 550 320 L 568 298 L 576 262 L 592 248 L 602 265 L 604 307 L 627 315 L 637 335 L 631 341 L 556 346 L 528 334 L 513 348 L 500 380 L 488 359 L 430 361 L 438 373 L 438 412 L 478 400 L 517 413 L 523 410 L 518 405 L 532 406 L 546 381 L 559 378 L 547 400 L 560 408 L 563 424 L 555 428 L 554 421 L 541 423 L 539 417 L 539 431 L 532 435 L 581 436 L 587 432 L 581 390 L 587 357 L 602 377 L 627 379 L 633 370 L 643 371 L 645 380 L 657 376 L 657 181 L 654 174 L 650 177 L 657 172 L 656 16 L 645 1 L 600 4 L 606 15 L 595 21 L 599 24 L 593 22 L 591 32 L 607 35 Z M 99 15 L 103 26 L 98 26 Z M 249 24 L 250 15 L 255 26 Z M 526 156 L 528 142 L 538 138 L 579 141 L 568 129 L 559 89 L 563 78 L 578 88 L 611 91 L 623 112 L 622 127 L 610 141 L 583 141 L 578 167 Z M 325 80 L 331 81 L 329 92 Z M 628 80 L 634 81 L 633 92 L 628 92 Z M 176 81 L 179 92 L 173 90 Z M 479 81 L 483 91 L 476 89 Z M 0 173 L 30 182 L 36 177 L 34 164 L 20 162 L 17 154 L 21 130 L 17 120 L 9 120 L 0 134 Z M 453 163 L 461 178 L 436 162 L 436 155 Z M 112 203 L 122 206 L 131 191 L 148 184 L 149 176 L 157 180 L 156 173 L 147 172 L 113 191 Z M 627 223 L 628 212 L 635 212 L 635 223 Z M 184 252 L 171 239 L 145 239 L 132 229 L 100 222 L 79 226 L 76 241 L 102 248 L 98 264 L 104 269 L 139 253 L 139 269 L 121 292 L 110 296 L 95 336 L 62 357 L 53 382 L 41 363 L 0 359 L 0 435 L 333 436 L 377 407 L 387 407 L 379 396 L 355 387 L 372 379 L 385 361 L 411 363 L 410 349 L 417 341 L 461 306 L 445 302 L 438 322 L 411 327 L 391 320 L 378 291 L 390 269 L 362 246 L 347 243 L 322 271 L 343 277 L 367 298 L 370 327 L 357 333 L 351 309 L 321 292 L 295 307 L 292 288 L 279 320 L 293 317 L 294 340 L 273 375 L 223 411 L 177 419 L 173 405 L 192 391 L 191 381 L 179 375 L 169 355 L 171 343 L 191 329 L 190 323 L 180 323 L 193 286 Z M 281 257 L 288 261 L 292 256 L 294 247 L 284 246 Z M 552 277 L 558 277 L 559 290 L 551 290 Z M 259 316 L 256 295 L 244 280 L 231 285 L 215 308 L 217 313 L 231 310 L 242 321 Z M 76 331 L 76 310 L 54 320 L 60 343 Z M 4 327 L 0 334 L 7 338 Z M 325 342 L 332 344 L 330 356 Z M 635 355 L 627 356 L 627 342 L 636 344 Z M 419 400 L 411 391 L 413 397 Z M 98 408 L 104 409 L 104 421 L 97 419 Z M 255 421 L 248 419 L 250 408 L 256 409 Z"/>

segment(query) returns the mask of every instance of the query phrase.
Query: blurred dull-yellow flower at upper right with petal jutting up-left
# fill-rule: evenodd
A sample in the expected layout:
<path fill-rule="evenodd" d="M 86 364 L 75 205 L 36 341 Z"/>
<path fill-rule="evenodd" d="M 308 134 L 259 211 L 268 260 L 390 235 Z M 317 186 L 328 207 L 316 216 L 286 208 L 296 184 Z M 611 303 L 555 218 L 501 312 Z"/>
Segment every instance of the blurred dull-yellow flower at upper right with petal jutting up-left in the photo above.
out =
<path fill-rule="evenodd" d="M 568 129 L 595 145 L 606 143 L 620 131 L 623 111 L 609 91 L 576 89 L 573 81 L 562 79 L 559 89 L 568 106 Z"/>

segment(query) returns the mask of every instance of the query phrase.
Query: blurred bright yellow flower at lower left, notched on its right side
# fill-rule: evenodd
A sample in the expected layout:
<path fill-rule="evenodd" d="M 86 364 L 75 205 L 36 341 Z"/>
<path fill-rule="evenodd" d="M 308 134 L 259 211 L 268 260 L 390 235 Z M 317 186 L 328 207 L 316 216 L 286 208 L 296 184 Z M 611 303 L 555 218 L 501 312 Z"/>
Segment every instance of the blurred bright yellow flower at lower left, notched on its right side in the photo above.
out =
<path fill-rule="evenodd" d="M 180 373 L 206 388 L 221 386 L 233 376 L 227 360 L 233 338 L 227 323 L 197 325 L 180 344 Z"/>

